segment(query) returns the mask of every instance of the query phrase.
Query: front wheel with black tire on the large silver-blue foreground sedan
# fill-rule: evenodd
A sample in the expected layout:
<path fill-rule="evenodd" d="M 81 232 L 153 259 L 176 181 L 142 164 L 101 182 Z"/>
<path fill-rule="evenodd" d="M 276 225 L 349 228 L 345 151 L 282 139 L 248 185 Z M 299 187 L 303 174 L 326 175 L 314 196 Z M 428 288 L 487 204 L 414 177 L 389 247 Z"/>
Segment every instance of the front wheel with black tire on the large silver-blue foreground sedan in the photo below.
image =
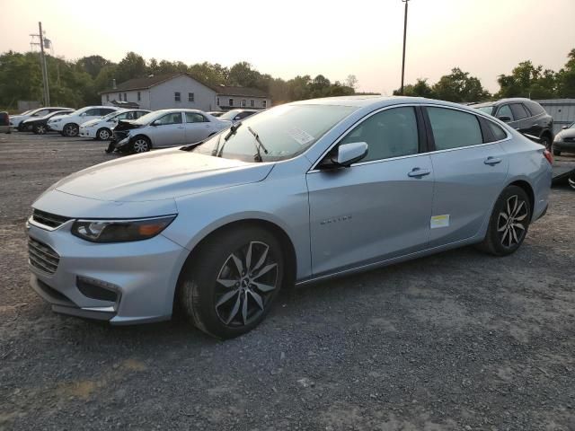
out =
<path fill-rule="evenodd" d="M 178 286 L 179 305 L 199 330 L 218 339 L 238 337 L 270 312 L 284 279 L 284 262 L 281 243 L 258 226 L 216 233 L 186 263 Z M 242 275 L 240 267 L 252 271 Z"/>

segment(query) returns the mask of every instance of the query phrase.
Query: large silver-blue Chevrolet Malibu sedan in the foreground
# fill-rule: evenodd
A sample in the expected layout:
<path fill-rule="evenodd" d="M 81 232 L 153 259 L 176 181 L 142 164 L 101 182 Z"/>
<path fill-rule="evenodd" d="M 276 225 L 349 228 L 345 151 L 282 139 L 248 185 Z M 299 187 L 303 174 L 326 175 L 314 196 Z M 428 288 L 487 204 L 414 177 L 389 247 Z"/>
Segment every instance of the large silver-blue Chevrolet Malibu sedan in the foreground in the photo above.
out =
<path fill-rule="evenodd" d="M 56 312 L 252 330 L 280 287 L 468 244 L 503 256 L 544 215 L 551 154 L 419 98 L 299 101 L 199 145 L 103 163 L 32 205 L 31 286 Z"/>

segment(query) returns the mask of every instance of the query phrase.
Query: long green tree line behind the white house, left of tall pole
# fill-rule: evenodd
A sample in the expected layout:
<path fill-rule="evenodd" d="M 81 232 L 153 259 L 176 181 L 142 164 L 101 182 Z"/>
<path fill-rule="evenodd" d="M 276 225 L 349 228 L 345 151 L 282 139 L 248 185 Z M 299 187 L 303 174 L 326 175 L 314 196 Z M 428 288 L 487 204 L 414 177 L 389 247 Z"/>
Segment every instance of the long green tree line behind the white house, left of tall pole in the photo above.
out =
<path fill-rule="evenodd" d="M 358 80 L 349 75 L 345 82 L 332 82 L 324 75 L 314 78 L 298 75 L 293 79 L 261 74 L 248 62 L 226 67 L 208 62 L 186 65 L 181 61 L 158 61 L 135 52 L 113 63 L 102 56 L 82 57 L 75 61 L 47 56 L 50 104 L 82 107 L 100 104 L 100 92 L 108 90 L 115 79 L 118 84 L 147 75 L 183 72 L 212 86 L 219 84 L 259 88 L 268 92 L 275 104 L 316 97 L 345 96 L 355 93 Z M 42 100 L 40 55 L 36 52 L 5 52 L 0 55 L 0 107 L 15 109 L 18 101 Z"/>

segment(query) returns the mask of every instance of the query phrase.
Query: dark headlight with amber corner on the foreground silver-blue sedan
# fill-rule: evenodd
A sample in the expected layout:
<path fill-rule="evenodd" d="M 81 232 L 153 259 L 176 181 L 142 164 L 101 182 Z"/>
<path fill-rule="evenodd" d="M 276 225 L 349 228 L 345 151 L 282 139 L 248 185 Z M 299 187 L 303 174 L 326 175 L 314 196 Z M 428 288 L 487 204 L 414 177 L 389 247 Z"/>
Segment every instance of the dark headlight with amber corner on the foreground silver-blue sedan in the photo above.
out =
<path fill-rule="evenodd" d="M 173 222 L 173 216 L 136 220 L 76 220 L 72 234 L 90 242 L 128 242 L 152 238 Z"/>

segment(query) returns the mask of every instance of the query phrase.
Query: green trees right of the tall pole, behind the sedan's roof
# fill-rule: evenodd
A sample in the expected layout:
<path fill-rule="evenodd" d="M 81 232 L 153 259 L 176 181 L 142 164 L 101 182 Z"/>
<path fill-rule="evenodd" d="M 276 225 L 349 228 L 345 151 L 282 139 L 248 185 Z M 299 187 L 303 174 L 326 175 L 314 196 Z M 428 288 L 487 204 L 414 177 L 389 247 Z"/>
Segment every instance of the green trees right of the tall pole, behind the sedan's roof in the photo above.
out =
<path fill-rule="evenodd" d="M 530 60 L 522 61 L 513 68 L 510 75 L 499 75 L 500 90 L 490 94 L 481 82 L 459 67 L 443 75 L 436 84 L 429 85 L 426 78 L 419 78 L 415 84 L 406 85 L 407 96 L 429 97 L 443 101 L 471 102 L 526 97 L 529 99 L 575 98 L 575 48 L 567 55 L 567 63 L 559 71 L 535 66 Z M 401 90 L 395 90 L 395 95 Z"/>

